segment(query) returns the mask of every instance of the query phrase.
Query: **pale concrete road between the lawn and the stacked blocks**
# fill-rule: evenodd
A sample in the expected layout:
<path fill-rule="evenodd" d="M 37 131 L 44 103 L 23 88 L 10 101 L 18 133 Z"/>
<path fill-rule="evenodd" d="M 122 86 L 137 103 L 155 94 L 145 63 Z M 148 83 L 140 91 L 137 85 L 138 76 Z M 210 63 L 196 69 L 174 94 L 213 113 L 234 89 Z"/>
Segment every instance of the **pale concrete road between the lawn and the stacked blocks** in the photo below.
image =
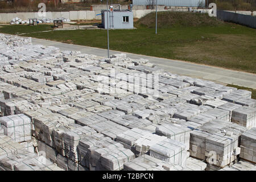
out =
<path fill-rule="evenodd" d="M 82 53 L 89 53 L 97 56 L 107 57 L 107 50 L 101 48 L 77 46 L 73 44 L 65 44 L 60 42 L 54 42 L 50 40 L 35 39 L 32 38 L 33 44 L 42 44 L 44 46 L 55 46 L 61 50 L 73 50 L 81 51 Z M 111 46 L 111 45 L 110 45 Z M 110 55 L 114 53 L 120 53 L 119 51 L 110 51 Z M 179 75 L 185 75 L 195 78 L 203 78 L 220 82 L 223 84 L 234 84 L 239 86 L 245 86 L 256 89 L 256 75 L 253 73 L 246 73 L 240 71 L 233 71 L 230 69 L 211 67 L 208 65 L 188 63 L 185 61 L 177 61 L 171 59 L 164 59 L 159 57 L 137 55 L 134 53 L 126 53 L 127 57 L 132 59 L 148 59 L 150 63 L 158 64 L 164 68 L 165 71 L 176 73 Z"/>

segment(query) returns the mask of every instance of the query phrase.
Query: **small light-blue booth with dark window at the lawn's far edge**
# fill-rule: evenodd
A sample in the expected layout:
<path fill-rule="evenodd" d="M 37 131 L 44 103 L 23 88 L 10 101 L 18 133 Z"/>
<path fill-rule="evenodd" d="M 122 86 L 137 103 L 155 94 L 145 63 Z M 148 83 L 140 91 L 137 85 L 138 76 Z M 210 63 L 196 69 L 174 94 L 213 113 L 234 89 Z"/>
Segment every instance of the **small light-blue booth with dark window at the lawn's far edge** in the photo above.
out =
<path fill-rule="evenodd" d="M 119 4 L 111 4 L 108 10 L 101 10 L 102 26 L 112 29 L 132 29 L 133 11 L 121 9 Z"/>

